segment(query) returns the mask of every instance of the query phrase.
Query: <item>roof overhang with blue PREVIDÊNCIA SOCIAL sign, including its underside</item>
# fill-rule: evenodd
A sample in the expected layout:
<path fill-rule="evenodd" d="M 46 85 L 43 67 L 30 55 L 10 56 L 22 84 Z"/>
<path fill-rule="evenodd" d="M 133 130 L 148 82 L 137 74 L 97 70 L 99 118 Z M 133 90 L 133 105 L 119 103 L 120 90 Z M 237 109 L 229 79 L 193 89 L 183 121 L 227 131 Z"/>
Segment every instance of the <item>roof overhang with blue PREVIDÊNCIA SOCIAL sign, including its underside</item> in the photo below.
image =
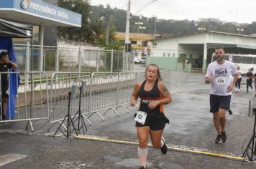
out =
<path fill-rule="evenodd" d="M 45 26 L 81 27 L 81 14 L 40 0 L 0 0 L 0 17 Z"/>

